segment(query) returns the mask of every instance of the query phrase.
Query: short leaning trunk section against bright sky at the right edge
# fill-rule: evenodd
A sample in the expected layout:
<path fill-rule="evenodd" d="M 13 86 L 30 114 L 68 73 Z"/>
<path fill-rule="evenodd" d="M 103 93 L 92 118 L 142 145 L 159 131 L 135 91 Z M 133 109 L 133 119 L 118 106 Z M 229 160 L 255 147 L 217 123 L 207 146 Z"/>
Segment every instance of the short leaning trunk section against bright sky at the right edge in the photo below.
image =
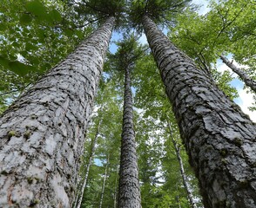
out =
<path fill-rule="evenodd" d="M 256 81 L 252 80 L 250 76 L 246 75 L 242 69 L 236 67 L 232 62 L 229 62 L 224 55 L 219 55 L 219 58 L 222 60 L 222 62 L 225 62 L 226 66 L 231 68 L 234 73 L 239 75 L 242 81 L 245 81 L 247 87 L 251 88 L 254 93 L 256 93 Z"/>

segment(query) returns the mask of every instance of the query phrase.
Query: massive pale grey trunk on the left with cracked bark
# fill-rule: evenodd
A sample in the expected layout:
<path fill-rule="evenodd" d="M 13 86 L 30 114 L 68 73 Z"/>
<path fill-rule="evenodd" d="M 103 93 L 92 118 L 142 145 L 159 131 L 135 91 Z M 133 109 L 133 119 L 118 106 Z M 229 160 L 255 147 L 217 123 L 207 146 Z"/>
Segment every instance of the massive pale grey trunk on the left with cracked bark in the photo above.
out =
<path fill-rule="evenodd" d="M 114 17 L 0 119 L 0 207 L 70 207 Z"/>

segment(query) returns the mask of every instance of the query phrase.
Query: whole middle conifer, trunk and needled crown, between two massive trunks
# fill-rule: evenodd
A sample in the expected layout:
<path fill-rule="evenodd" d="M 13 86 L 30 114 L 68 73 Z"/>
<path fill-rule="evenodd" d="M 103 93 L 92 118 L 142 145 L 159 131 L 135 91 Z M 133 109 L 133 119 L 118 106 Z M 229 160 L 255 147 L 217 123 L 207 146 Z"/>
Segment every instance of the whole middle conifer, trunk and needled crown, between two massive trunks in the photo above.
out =
<path fill-rule="evenodd" d="M 135 36 L 118 42 L 119 49 L 115 55 L 114 68 L 125 71 L 124 113 L 121 142 L 121 159 L 118 188 L 118 207 L 141 207 L 138 182 L 138 162 L 133 127 L 131 69 L 142 55 Z M 137 49 L 135 48 L 137 47 Z"/>

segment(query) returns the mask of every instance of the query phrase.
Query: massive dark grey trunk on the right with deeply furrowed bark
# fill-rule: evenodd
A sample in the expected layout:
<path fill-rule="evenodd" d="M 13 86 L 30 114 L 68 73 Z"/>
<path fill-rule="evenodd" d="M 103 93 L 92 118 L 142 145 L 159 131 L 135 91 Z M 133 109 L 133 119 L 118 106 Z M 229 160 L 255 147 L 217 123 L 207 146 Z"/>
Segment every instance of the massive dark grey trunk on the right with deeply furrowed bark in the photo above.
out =
<path fill-rule="evenodd" d="M 205 207 L 256 207 L 256 127 L 148 16 L 143 24 Z"/>

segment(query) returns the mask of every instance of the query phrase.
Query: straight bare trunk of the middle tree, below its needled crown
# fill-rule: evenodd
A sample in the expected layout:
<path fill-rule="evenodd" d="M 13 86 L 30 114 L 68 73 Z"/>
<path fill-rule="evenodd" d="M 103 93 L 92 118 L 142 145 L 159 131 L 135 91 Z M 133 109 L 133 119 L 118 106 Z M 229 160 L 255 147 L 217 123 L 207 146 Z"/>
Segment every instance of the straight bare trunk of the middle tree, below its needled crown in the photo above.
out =
<path fill-rule="evenodd" d="M 128 68 L 125 70 L 125 96 L 119 172 L 118 207 L 141 207 L 135 133 L 133 129 L 131 79 Z"/>

